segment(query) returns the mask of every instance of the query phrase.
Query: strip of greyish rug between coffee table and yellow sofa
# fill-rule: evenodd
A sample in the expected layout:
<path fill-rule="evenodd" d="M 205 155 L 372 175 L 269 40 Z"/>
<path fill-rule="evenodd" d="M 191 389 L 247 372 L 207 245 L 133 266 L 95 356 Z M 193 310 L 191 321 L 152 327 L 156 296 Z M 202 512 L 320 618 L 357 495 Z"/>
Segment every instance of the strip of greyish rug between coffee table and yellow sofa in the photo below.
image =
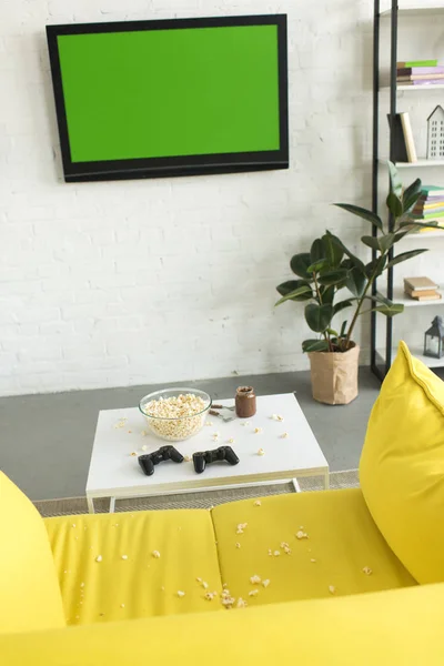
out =
<path fill-rule="evenodd" d="M 301 491 L 322 491 L 324 488 L 323 477 L 312 476 L 309 478 L 299 478 Z M 332 472 L 330 475 L 331 490 L 356 488 L 359 487 L 357 470 L 347 470 L 346 472 Z M 210 508 L 216 504 L 235 502 L 236 500 L 248 500 L 249 497 L 264 497 L 265 495 L 281 495 L 283 493 L 293 493 L 291 483 L 279 483 L 274 485 L 260 485 L 250 488 L 233 488 L 221 491 L 205 491 L 201 493 L 181 493 L 180 495 L 162 495 L 158 497 L 132 497 L 131 500 L 119 500 L 115 502 L 115 511 L 160 511 L 172 508 Z M 43 517 L 65 516 L 88 513 L 85 497 L 67 497 L 64 500 L 46 500 L 34 502 Z M 107 513 L 109 511 L 109 500 L 95 500 L 94 507 L 97 513 Z"/>

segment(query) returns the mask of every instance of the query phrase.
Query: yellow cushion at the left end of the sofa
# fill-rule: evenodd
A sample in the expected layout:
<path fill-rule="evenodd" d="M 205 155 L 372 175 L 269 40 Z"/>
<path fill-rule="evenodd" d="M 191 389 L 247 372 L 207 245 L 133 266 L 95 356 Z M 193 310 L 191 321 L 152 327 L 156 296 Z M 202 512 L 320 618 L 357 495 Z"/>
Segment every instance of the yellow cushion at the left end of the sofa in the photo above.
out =
<path fill-rule="evenodd" d="M 0 472 L 0 632 L 62 626 L 63 608 L 44 523 L 28 497 Z"/>

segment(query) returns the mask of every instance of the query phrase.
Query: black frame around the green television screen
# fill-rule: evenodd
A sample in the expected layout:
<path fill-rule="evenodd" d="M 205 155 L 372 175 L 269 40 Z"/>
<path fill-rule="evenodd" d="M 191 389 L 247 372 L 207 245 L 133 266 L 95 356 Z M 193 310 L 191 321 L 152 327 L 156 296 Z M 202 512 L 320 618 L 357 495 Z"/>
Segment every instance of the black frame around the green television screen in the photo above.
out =
<path fill-rule="evenodd" d="M 69 143 L 67 111 L 57 38 L 59 34 L 90 34 L 103 32 L 131 32 L 139 30 L 173 30 L 182 28 L 224 28 L 230 26 L 276 26 L 279 63 L 280 149 L 240 153 L 181 155 L 170 158 L 141 158 L 73 162 Z M 266 171 L 289 168 L 289 100 L 286 14 L 216 17 L 203 19 L 168 19 L 155 21 L 115 21 L 110 23 L 74 23 L 47 26 L 48 49 L 51 63 L 65 182 L 127 180 Z"/>

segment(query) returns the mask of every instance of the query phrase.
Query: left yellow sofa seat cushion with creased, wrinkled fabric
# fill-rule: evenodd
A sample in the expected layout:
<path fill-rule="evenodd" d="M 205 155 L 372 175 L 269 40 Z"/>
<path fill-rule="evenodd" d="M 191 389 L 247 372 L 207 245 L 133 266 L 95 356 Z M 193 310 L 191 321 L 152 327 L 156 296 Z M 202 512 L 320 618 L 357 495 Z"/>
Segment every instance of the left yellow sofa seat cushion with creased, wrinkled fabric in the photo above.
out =
<path fill-rule="evenodd" d="M 196 581 L 221 592 L 209 511 L 63 516 L 46 525 L 68 624 L 221 608 Z"/>

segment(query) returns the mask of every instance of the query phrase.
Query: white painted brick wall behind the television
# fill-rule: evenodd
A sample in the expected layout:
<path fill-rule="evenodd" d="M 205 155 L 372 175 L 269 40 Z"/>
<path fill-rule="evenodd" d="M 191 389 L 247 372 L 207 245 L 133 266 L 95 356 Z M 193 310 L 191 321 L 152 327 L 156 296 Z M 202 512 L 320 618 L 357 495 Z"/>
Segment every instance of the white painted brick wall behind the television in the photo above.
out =
<path fill-rule="evenodd" d="M 372 6 L 2 0 L 0 394 L 307 366 L 274 287 L 326 226 L 369 231 L 329 204 L 370 203 Z M 268 12 L 289 14 L 289 171 L 62 182 L 46 23 Z"/>

